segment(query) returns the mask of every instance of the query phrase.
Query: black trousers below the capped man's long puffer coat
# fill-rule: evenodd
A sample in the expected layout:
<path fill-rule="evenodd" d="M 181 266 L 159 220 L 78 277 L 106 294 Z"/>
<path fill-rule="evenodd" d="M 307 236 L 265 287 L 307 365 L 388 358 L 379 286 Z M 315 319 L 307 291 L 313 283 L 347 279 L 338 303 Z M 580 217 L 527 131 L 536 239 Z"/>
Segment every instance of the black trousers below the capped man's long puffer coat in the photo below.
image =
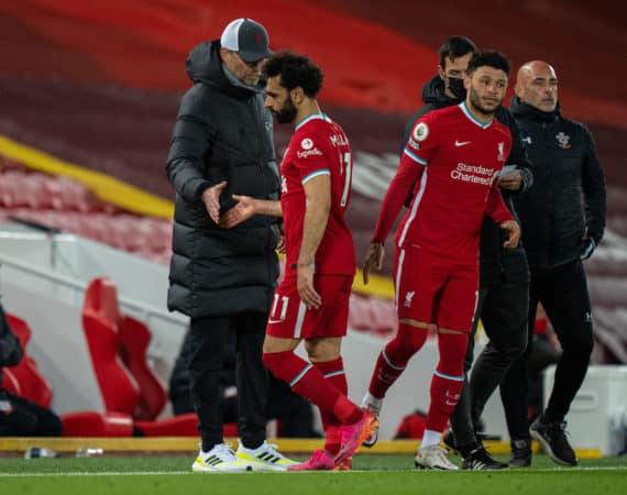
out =
<path fill-rule="evenodd" d="M 198 415 L 202 450 L 223 442 L 220 371 L 229 332 L 235 332 L 235 386 L 242 443 L 255 449 L 265 440 L 268 374 L 262 361 L 267 314 L 191 318 L 189 389 Z"/>

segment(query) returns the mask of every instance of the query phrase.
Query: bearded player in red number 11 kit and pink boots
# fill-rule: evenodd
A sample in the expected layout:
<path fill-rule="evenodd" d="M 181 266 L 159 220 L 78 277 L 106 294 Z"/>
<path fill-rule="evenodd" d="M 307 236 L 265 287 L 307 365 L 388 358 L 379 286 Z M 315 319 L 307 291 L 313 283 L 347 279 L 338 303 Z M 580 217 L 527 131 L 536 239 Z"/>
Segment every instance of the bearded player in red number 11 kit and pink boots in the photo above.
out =
<path fill-rule="evenodd" d="M 264 73 L 265 106 L 278 122 L 295 125 L 280 164 L 280 201 L 233 196 L 237 205 L 220 221 L 229 228 L 253 215 L 283 216 L 286 273 L 270 311 L 263 360 L 274 376 L 320 408 L 326 432 L 324 448 L 288 470 L 345 470 L 377 427 L 375 415 L 348 399 L 340 354 L 355 274 L 344 220 L 351 146 L 342 128 L 320 111 L 319 67 L 283 53 L 267 61 Z M 301 340 L 309 362 L 294 353 Z"/>

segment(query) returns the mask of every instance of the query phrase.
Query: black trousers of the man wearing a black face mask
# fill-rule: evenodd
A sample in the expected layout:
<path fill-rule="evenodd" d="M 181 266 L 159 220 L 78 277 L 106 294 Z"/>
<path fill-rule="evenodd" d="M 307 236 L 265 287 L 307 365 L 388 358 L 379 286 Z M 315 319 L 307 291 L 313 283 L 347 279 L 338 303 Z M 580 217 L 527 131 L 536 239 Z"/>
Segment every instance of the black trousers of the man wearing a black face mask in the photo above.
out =
<path fill-rule="evenodd" d="M 464 361 L 464 385 L 450 419 L 458 446 L 474 444 L 476 425 L 487 400 L 505 373 L 525 352 L 528 308 L 529 282 L 526 277 L 480 289 Z M 480 318 L 490 342 L 473 366 L 474 336 Z M 473 367 L 469 383 L 468 372 L 471 366 Z"/>

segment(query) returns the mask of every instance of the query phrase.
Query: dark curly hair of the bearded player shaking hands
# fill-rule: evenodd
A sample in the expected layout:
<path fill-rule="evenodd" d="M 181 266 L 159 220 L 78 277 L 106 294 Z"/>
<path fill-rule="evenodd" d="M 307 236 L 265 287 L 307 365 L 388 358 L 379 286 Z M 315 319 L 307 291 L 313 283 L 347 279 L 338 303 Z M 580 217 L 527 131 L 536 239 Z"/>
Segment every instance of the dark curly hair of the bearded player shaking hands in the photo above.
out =
<path fill-rule="evenodd" d="M 301 87 L 305 95 L 315 98 L 322 88 L 324 76 L 320 67 L 305 55 L 282 52 L 272 55 L 264 65 L 265 77 L 280 76 L 280 86 L 292 90 Z"/>

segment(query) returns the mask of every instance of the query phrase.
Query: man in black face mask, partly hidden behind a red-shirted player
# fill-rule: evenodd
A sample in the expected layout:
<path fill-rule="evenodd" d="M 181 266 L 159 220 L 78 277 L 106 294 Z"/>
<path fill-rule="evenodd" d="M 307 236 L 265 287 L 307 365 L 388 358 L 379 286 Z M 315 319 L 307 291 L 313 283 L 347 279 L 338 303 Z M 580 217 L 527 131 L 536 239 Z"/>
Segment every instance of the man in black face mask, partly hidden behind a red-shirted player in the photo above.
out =
<path fill-rule="evenodd" d="M 474 43 L 464 36 L 453 36 L 440 46 L 440 74 L 422 87 L 426 105 L 407 123 L 403 147 L 416 119 L 431 110 L 459 105 L 465 97 L 463 77 L 475 51 Z M 516 217 L 512 199 L 529 189 L 532 175 L 512 113 L 501 107 L 495 117 L 512 132 L 512 152 L 506 163 L 510 170 L 499 177 L 499 186 L 505 204 Z M 469 470 L 507 468 L 507 464 L 496 461 L 485 451 L 481 440 L 475 438 L 475 429 L 485 404 L 512 363 L 525 351 L 527 342 L 527 258 L 520 244 L 514 250 L 506 250 L 503 249 L 504 241 L 502 229 L 484 217 L 480 246 L 480 294 L 473 329 L 469 336 L 464 363 L 466 375 L 473 363 L 474 336 L 480 318 L 490 342 L 474 364 L 470 384 L 468 380 L 464 382 L 462 395 L 450 418 L 453 435 L 444 437 L 444 442 L 462 455 L 462 466 Z M 527 410 L 526 406 L 522 406 L 522 410 Z"/>

